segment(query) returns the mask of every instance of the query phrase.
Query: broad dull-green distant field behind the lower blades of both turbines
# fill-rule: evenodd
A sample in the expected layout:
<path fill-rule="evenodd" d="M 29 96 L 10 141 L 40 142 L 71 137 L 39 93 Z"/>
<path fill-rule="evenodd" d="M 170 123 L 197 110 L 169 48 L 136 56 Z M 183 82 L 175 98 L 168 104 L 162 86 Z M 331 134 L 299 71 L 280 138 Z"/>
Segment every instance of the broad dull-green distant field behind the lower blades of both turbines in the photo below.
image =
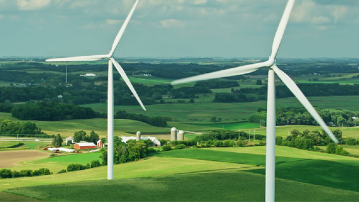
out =
<path fill-rule="evenodd" d="M 329 97 L 308 97 L 313 106 L 320 108 L 348 109 L 359 111 L 357 100 L 359 96 L 329 96 Z M 199 103 L 201 99 L 195 99 L 194 104 L 157 104 L 146 106 L 143 111 L 140 106 L 115 106 L 115 111 L 126 110 L 130 113 L 145 114 L 148 116 L 169 116 L 179 122 L 201 122 L 207 121 L 215 116 L 223 121 L 241 121 L 257 111 L 258 108 L 266 108 L 266 101 L 245 102 L 245 103 Z M 345 103 L 345 104 L 338 104 Z M 277 107 L 302 107 L 295 97 L 276 100 Z M 104 103 L 82 105 L 91 107 L 95 111 L 106 112 L 107 105 Z"/>

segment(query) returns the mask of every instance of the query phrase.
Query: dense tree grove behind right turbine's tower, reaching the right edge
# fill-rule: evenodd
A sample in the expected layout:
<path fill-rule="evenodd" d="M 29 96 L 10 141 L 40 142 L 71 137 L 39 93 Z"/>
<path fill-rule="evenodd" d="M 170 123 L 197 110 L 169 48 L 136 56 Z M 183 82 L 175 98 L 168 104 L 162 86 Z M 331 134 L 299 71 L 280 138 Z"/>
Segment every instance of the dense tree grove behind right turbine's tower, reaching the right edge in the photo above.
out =
<path fill-rule="evenodd" d="M 359 125 L 359 112 L 337 109 L 316 109 L 323 120 L 330 126 L 357 126 Z M 354 117 L 354 118 L 353 118 Z M 266 109 L 260 108 L 258 112 L 250 115 L 249 122 L 260 123 L 266 120 Z M 317 122 L 305 108 L 277 108 L 277 125 L 317 125 Z"/>

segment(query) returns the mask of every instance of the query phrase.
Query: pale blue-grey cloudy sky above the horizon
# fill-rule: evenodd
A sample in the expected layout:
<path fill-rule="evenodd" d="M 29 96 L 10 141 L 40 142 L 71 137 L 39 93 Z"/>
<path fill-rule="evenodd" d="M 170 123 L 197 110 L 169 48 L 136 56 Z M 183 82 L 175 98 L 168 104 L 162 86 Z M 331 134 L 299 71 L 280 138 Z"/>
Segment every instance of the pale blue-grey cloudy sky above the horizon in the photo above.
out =
<path fill-rule="evenodd" d="M 0 0 L 0 56 L 106 54 L 135 0 Z M 116 57 L 267 57 L 287 0 L 140 0 Z M 282 58 L 359 58 L 359 0 L 296 0 Z"/>

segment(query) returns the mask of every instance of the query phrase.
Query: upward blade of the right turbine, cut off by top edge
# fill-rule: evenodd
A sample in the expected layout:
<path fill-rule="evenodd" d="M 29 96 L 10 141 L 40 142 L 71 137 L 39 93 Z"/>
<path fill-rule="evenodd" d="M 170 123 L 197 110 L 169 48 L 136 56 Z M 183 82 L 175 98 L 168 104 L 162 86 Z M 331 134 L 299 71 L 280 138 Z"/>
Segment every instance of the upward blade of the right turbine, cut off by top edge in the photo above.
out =
<path fill-rule="evenodd" d="M 295 0 L 289 0 L 284 10 L 283 16 L 281 17 L 278 29 L 276 30 L 273 47 L 270 58 L 275 59 L 278 54 L 279 46 L 285 32 L 286 25 L 288 24 L 291 10 L 293 9 Z"/>

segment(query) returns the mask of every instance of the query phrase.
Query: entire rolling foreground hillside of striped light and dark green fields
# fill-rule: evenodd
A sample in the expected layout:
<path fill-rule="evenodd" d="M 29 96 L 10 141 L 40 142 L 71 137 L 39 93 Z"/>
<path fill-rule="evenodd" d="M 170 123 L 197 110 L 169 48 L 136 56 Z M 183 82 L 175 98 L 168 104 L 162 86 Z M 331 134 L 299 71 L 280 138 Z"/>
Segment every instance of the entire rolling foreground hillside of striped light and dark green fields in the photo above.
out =
<path fill-rule="evenodd" d="M 43 201 L 263 201 L 264 153 L 265 146 L 181 149 L 115 165 L 112 181 L 101 166 L 1 179 L 1 190 Z M 357 201 L 358 158 L 282 146 L 276 155 L 277 201 Z"/>

